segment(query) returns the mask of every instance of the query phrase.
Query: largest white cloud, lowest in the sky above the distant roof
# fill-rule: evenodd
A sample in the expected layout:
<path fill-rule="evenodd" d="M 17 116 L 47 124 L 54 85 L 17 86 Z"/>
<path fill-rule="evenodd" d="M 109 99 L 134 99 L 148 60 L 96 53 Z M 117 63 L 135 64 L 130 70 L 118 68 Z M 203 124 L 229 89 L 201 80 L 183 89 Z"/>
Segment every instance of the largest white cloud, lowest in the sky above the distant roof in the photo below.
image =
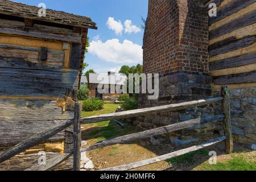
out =
<path fill-rule="evenodd" d="M 101 60 L 118 63 L 142 63 L 142 46 L 134 44 L 129 40 L 110 39 L 105 43 L 101 40 L 90 42 L 89 53 L 98 56 Z"/>

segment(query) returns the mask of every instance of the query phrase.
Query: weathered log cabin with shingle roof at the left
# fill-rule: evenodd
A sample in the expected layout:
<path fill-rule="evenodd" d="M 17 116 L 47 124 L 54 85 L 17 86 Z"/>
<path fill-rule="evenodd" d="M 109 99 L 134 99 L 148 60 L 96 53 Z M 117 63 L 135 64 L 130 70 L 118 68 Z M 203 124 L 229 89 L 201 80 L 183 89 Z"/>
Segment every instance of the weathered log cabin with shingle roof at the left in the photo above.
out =
<path fill-rule="evenodd" d="M 89 17 L 0 0 L 0 152 L 66 119 L 81 79 Z M 72 146 L 67 129 L 0 164 L 23 170 Z M 68 161 L 56 169 L 72 168 Z"/>

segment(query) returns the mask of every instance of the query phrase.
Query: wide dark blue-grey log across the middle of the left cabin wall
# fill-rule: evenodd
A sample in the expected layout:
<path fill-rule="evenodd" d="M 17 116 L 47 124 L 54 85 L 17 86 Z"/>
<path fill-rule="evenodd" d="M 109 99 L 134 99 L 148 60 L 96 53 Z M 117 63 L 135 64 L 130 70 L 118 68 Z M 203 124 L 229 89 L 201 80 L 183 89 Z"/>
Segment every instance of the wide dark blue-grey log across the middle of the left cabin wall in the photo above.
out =
<path fill-rule="evenodd" d="M 64 98 L 72 89 L 77 71 L 0 68 L 0 96 L 39 96 Z"/>

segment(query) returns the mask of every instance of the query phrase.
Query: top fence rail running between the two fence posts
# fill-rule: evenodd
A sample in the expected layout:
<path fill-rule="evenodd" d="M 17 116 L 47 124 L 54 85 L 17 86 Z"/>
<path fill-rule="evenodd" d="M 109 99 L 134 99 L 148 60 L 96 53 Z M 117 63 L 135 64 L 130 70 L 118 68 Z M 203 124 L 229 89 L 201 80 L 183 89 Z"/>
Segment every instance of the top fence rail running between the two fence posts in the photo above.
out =
<path fill-rule="evenodd" d="M 164 105 L 164 106 L 149 107 L 144 109 L 122 111 L 118 113 L 96 115 L 93 117 L 82 118 L 81 123 L 86 124 L 86 123 L 93 123 L 93 122 L 108 121 L 113 119 L 133 118 L 133 117 L 138 117 L 143 115 L 158 114 L 165 111 L 177 111 L 177 110 L 186 109 L 188 107 L 212 104 L 214 102 L 221 101 L 222 99 L 223 99 L 222 97 L 208 98 L 206 100 L 190 101 L 190 102 L 183 102 L 179 104 L 171 104 L 171 105 Z"/>

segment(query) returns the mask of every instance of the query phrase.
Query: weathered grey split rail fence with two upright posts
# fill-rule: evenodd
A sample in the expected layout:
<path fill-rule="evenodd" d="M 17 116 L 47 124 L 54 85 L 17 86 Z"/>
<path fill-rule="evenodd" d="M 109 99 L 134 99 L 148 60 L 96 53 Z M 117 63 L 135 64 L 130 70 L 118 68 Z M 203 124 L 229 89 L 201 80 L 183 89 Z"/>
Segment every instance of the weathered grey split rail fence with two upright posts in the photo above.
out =
<path fill-rule="evenodd" d="M 224 133 L 225 136 L 220 138 L 209 140 L 208 142 L 197 144 L 196 146 L 192 146 L 189 148 L 185 148 L 183 150 L 171 152 L 170 154 L 157 156 L 155 158 L 142 160 L 140 162 L 135 162 L 131 164 L 125 164 L 118 167 L 112 167 L 108 169 L 103 169 L 103 171 L 125 171 L 133 168 L 138 168 L 142 166 L 146 166 L 148 164 L 160 162 L 163 160 L 174 158 L 175 156 L 180 156 L 187 154 L 188 152 L 196 151 L 204 147 L 211 146 L 218 142 L 225 140 L 225 151 L 228 153 L 232 153 L 233 151 L 233 138 L 232 138 L 232 130 L 231 130 L 231 118 L 230 118 L 230 98 L 229 98 L 229 89 L 227 86 L 223 86 L 221 89 L 222 97 L 208 98 L 206 100 L 197 100 L 190 102 L 183 102 L 180 104 L 171 104 L 164 106 L 156 106 L 156 107 L 148 107 L 144 109 L 130 110 L 130 111 L 122 111 L 119 113 L 111 113 L 111 114 L 102 114 L 94 117 L 81 118 L 81 102 L 76 102 L 75 104 L 75 114 L 73 119 L 67 120 L 67 122 L 60 123 L 59 125 L 53 126 L 52 128 L 43 131 L 33 137 L 24 140 L 23 142 L 17 144 L 16 146 L 10 148 L 7 151 L 3 151 L 0 154 L 0 163 L 12 158 L 15 155 L 20 154 L 20 152 L 26 151 L 29 148 L 35 146 L 36 144 L 42 143 L 46 141 L 48 138 L 51 138 L 53 135 L 63 131 L 67 127 L 73 125 L 73 150 L 68 153 L 58 155 L 55 158 L 51 158 L 47 160 L 46 164 L 37 164 L 32 166 L 26 171 L 47 171 L 51 170 L 53 167 L 58 164 L 64 162 L 71 155 L 73 155 L 73 170 L 80 171 L 80 158 L 81 152 L 94 150 L 100 147 L 112 146 L 114 144 L 122 144 L 129 143 L 134 140 L 153 137 L 156 135 L 162 135 L 166 133 L 170 133 L 173 131 L 187 129 L 193 126 L 201 126 L 206 123 L 212 122 L 223 122 L 224 123 Z M 177 111 L 187 109 L 189 107 L 195 106 L 203 106 L 208 104 L 213 104 L 214 102 L 222 101 L 222 113 L 220 115 L 214 115 L 205 118 L 197 118 L 191 119 L 189 121 L 184 121 L 180 123 L 175 123 L 173 125 L 159 127 L 152 130 L 142 131 L 139 133 L 129 134 L 122 137 L 117 137 L 113 139 L 104 140 L 100 143 L 93 144 L 87 148 L 81 149 L 81 130 L 80 125 L 86 123 L 96 123 L 101 121 L 108 121 L 113 119 L 123 119 L 123 118 L 133 118 L 144 115 L 158 114 L 166 111 Z"/>

